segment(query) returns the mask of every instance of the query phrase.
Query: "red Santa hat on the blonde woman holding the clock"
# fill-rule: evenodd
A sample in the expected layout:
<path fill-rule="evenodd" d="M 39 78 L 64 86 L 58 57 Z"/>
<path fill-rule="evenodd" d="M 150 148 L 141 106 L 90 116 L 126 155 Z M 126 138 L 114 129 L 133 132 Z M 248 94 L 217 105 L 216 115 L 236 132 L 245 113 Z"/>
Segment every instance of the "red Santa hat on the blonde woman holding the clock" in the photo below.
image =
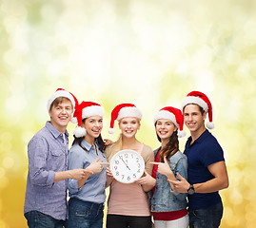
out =
<path fill-rule="evenodd" d="M 109 134 L 114 134 L 114 121 L 120 121 L 125 117 L 136 117 L 139 120 L 142 119 L 141 111 L 134 104 L 118 104 L 111 112 Z"/>

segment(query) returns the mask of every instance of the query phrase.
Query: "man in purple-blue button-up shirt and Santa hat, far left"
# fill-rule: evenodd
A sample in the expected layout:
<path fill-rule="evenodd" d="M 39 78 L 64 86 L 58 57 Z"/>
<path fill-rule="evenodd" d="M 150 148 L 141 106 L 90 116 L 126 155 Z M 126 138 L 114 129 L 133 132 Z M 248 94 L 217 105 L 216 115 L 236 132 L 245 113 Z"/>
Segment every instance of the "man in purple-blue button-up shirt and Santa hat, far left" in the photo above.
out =
<path fill-rule="evenodd" d="M 29 173 L 24 216 L 29 227 L 60 228 L 67 218 L 67 179 L 81 180 L 84 169 L 68 170 L 69 133 L 76 98 L 57 89 L 49 98 L 50 121 L 28 145 Z"/>

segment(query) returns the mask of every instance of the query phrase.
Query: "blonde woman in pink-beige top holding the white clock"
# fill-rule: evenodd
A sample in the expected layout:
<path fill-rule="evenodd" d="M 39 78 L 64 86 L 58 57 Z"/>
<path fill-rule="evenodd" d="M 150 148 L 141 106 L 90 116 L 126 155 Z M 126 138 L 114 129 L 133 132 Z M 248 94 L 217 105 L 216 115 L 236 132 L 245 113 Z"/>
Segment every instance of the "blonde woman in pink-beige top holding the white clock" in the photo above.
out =
<path fill-rule="evenodd" d="M 107 228 L 151 227 L 147 192 L 144 185 L 133 182 L 136 175 L 139 175 L 143 169 L 143 165 L 151 175 L 152 164 L 150 161 L 154 161 L 152 149 L 136 139 L 141 119 L 142 113 L 134 104 L 119 104 L 111 112 L 108 132 L 114 133 L 113 125 L 117 120 L 121 135 L 117 142 L 112 143 L 106 149 L 108 161 L 114 160 L 120 150 L 126 151 L 114 161 L 116 165 L 111 170 L 112 172 L 109 169 L 107 171 L 110 177 L 113 175 L 117 180 L 119 180 L 117 177 L 121 175 L 121 171 L 124 171 L 119 181 L 113 179 L 109 183 Z M 141 157 L 144 161 L 140 161 Z M 123 167 L 123 170 L 120 170 L 119 167 Z"/>

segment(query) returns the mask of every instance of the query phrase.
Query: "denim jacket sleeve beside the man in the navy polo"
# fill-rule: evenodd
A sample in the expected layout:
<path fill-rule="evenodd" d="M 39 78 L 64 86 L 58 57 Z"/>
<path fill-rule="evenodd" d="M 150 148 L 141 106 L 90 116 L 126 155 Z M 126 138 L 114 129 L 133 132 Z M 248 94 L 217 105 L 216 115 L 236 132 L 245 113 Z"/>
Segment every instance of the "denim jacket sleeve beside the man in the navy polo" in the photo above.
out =
<path fill-rule="evenodd" d="M 179 173 L 183 178 L 187 180 L 187 157 L 183 155 L 183 157 L 177 162 L 174 175 L 177 180 L 180 180 L 177 176 Z M 187 198 L 187 193 L 178 193 L 175 190 L 171 192 L 176 196 L 177 199 L 185 200 Z"/>

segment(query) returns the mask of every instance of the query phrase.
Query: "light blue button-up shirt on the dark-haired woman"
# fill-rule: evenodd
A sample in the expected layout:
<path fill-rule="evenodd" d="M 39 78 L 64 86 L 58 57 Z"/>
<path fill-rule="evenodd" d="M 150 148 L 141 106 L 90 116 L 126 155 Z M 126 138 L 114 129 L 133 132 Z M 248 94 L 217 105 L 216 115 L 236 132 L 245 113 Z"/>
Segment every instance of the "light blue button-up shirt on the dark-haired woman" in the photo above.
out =
<path fill-rule="evenodd" d="M 82 142 L 84 150 L 79 144 L 74 144 L 69 150 L 68 162 L 69 169 L 83 168 L 89 166 L 92 161 L 95 161 L 100 157 L 99 162 L 107 162 L 105 154 L 99 150 L 98 143 L 95 142 L 96 151 L 94 147 L 86 141 Z M 103 203 L 106 199 L 105 186 L 106 186 L 106 165 L 100 173 L 95 173 L 89 176 L 89 179 L 85 184 L 78 188 L 78 180 L 69 179 L 69 197 L 77 198 L 84 201 L 90 201 L 95 203 Z"/>

